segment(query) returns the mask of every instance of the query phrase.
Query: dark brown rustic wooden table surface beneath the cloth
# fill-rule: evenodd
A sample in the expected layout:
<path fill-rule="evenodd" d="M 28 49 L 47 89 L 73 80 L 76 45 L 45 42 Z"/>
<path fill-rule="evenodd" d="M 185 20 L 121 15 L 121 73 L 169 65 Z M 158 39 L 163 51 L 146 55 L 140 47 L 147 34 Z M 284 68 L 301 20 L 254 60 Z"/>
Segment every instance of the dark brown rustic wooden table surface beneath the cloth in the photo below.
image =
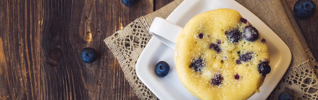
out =
<path fill-rule="evenodd" d="M 0 99 L 138 99 L 103 39 L 171 1 L 0 0 Z M 317 58 L 318 11 L 296 20 Z M 83 63 L 85 47 L 100 58 Z"/>

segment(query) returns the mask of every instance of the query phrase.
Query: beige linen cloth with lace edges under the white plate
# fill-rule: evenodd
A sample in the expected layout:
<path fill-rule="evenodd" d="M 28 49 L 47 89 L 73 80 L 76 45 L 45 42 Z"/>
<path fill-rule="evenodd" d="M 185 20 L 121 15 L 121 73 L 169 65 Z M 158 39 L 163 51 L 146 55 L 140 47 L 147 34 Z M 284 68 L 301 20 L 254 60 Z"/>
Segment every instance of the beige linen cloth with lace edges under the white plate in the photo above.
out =
<path fill-rule="evenodd" d="M 167 16 L 182 2 L 175 0 L 161 9 L 142 16 L 104 41 L 117 57 L 122 71 L 139 99 L 157 99 L 138 79 L 136 61 L 152 37 L 148 31 L 155 17 Z M 267 99 L 277 99 L 282 91 L 294 94 L 295 99 L 318 99 L 318 64 L 285 0 L 236 0 L 266 23 L 289 47 L 292 62 L 287 72 Z"/>

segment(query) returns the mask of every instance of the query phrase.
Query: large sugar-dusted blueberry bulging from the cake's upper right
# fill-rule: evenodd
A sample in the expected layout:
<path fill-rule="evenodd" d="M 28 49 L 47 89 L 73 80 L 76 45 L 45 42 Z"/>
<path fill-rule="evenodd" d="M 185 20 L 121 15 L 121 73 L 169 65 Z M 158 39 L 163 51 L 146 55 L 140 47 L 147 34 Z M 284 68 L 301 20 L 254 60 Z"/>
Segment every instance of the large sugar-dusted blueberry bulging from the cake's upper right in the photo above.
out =
<path fill-rule="evenodd" d="M 245 26 L 243 30 L 243 38 L 247 41 L 255 41 L 258 38 L 258 31 L 253 26 Z"/>

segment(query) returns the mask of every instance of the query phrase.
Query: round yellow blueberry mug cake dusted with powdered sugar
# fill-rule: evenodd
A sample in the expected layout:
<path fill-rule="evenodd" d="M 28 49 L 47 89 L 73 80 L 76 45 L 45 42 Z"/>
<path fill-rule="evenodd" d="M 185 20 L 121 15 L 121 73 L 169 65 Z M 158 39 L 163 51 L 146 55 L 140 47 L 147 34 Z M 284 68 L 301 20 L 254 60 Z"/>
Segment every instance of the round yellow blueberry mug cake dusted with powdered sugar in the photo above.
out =
<path fill-rule="evenodd" d="M 202 100 L 247 99 L 271 71 L 266 40 L 232 9 L 193 17 L 176 37 L 174 60 L 182 84 Z"/>

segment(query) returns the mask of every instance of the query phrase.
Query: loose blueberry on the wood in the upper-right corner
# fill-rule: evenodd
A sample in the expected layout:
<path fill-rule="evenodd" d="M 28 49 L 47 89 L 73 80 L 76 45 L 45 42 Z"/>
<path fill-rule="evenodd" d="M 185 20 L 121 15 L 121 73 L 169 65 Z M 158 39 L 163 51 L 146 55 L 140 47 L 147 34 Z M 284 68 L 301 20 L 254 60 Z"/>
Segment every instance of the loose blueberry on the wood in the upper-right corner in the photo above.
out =
<path fill-rule="evenodd" d="M 294 14 L 298 18 L 308 18 L 315 10 L 316 5 L 312 0 L 298 0 L 294 5 Z"/>

